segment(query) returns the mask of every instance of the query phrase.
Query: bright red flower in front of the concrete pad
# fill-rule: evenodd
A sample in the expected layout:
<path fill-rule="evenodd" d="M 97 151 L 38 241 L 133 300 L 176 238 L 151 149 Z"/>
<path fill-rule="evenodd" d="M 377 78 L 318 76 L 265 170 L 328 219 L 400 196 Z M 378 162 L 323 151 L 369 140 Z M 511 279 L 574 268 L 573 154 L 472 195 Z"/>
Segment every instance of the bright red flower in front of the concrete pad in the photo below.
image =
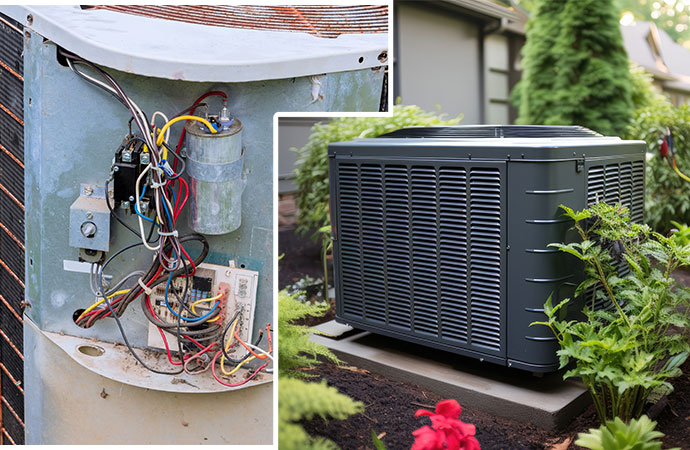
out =
<path fill-rule="evenodd" d="M 474 425 L 458 419 L 461 412 L 455 400 L 438 402 L 435 414 L 418 409 L 414 416 L 429 416 L 431 427 L 425 425 L 412 432 L 415 437 L 412 450 L 479 450 Z"/>

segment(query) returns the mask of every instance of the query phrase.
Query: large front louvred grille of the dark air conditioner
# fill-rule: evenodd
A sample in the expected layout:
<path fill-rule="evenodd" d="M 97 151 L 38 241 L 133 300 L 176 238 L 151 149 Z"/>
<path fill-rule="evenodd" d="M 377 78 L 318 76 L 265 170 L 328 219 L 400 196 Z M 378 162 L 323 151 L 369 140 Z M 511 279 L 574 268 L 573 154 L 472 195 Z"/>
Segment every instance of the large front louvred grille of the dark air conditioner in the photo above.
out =
<path fill-rule="evenodd" d="M 501 351 L 499 169 L 339 164 L 345 315 Z"/>

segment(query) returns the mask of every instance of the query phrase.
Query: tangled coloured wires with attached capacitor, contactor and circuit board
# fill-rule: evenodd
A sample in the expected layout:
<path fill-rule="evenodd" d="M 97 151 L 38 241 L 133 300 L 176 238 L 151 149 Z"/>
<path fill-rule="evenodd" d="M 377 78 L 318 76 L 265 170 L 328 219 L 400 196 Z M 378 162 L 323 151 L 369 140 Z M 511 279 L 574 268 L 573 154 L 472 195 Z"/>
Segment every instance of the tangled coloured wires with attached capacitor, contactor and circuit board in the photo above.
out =
<path fill-rule="evenodd" d="M 230 115 L 227 95 L 208 92 L 170 118 L 155 111 L 149 120 L 106 71 L 62 49 L 59 56 L 77 76 L 110 94 L 131 115 L 105 181 L 104 202 L 107 215 L 136 241 L 109 253 L 109 217 L 99 222 L 89 212 L 78 226 L 70 225 L 80 233 L 74 246 L 80 249 L 80 259 L 90 263 L 90 290 L 96 298 L 75 312 L 75 323 L 91 328 L 114 319 L 132 356 L 155 373 L 210 372 L 223 386 L 237 387 L 271 372 L 270 324 L 250 342 L 257 273 L 205 262 L 210 251 L 206 236 L 228 233 L 240 223 L 238 208 L 229 216 L 227 206 L 240 201 L 244 185 L 242 124 Z M 204 102 L 212 97 L 223 102 L 215 115 Z M 169 139 L 175 124 L 184 128 L 172 148 Z M 204 160 L 209 154 L 212 160 Z M 90 190 L 84 195 L 92 195 Z M 180 234 L 178 221 L 185 207 L 191 209 L 194 231 Z M 136 218 L 136 225 L 128 223 L 127 216 Z M 148 269 L 111 282 L 105 275 L 109 265 L 142 247 L 153 256 Z M 148 319 L 148 347 L 165 351 L 169 368 L 145 362 L 130 342 L 121 318 L 135 301 Z"/>

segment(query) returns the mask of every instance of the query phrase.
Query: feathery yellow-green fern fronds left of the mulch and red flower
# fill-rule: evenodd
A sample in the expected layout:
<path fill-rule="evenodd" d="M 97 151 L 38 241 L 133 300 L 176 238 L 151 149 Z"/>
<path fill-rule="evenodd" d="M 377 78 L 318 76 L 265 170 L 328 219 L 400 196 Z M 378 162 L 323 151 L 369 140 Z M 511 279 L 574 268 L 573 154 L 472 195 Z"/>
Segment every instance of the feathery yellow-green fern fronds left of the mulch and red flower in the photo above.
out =
<path fill-rule="evenodd" d="M 285 291 L 278 294 L 278 445 L 283 450 L 331 450 L 338 446 L 328 439 L 310 436 L 299 424 L 314 417 L 346 419 L 364 410 L 361 402 L 328 386 L 325 381 L 309 383 L 298 370 L 319 364 L 319 357 L 338 362 L 323 345 L 309 340 L 312 328 L 293 322 L 307 316 L 318 317 L 327 306 L 302 303 Z"/>

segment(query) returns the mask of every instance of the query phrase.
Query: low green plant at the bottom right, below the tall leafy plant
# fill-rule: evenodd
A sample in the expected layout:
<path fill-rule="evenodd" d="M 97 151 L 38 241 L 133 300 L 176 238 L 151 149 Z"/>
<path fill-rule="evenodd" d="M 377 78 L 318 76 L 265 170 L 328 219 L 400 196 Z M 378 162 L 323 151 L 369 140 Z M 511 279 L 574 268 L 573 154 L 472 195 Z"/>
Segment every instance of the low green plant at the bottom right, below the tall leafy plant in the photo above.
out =
<path fill-rule="evenodd" d="M 664 433 L 655 428 L 656 422 L 647 416 L 632 419 L 629 424 L 616 417 L 598 429 L 590 428 L 589 433 L 578 434 L 575 445 L 590 450 L 661 450 L 661 442 L 657 439 Z"/>

